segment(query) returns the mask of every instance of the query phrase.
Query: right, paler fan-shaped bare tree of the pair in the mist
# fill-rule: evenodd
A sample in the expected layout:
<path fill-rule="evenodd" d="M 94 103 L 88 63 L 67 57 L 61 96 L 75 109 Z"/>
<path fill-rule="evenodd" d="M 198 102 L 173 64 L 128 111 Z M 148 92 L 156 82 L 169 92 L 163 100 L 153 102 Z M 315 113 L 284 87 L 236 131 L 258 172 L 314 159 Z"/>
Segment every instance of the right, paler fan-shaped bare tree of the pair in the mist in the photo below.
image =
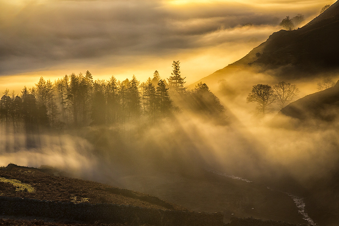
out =
<path fill-rule="evenodd" d="M 296 98 L 299 93 L 297 85 L 291 85 L 291 83 L 285 82 L 279 82 L 273 86 L 273 90 L 277 94 L 281 108 L 284 108 L 289 102 Z"/>

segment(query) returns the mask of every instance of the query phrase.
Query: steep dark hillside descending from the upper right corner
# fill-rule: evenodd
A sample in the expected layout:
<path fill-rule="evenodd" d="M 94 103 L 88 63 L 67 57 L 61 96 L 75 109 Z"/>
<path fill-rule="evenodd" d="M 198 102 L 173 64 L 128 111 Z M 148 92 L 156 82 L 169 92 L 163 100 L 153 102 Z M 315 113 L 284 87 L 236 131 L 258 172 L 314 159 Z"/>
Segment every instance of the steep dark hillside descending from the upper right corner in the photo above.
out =
<path fill-rule="evenodd" d="M 297 30 L 280 30 L 240 60 L 198 82 L 212 85 L 242 70 L 268 72 L 281 79 L 339 71 L 339 2 Z M 257 54 L 259 53 L 259 54 Z"/>

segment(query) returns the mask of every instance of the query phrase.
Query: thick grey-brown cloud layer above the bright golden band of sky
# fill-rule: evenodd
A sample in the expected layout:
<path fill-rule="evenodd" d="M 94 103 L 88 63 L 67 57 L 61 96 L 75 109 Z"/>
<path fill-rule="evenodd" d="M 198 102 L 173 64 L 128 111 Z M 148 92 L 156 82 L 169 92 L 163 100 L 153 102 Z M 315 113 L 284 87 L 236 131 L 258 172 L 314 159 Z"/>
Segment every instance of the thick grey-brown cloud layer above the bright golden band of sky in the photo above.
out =
<path fill-rule="evenodd" d="M 246 24 L 276 26 L 286 14 L 280 9 L 220 1 L 177 5 L 159 0 L 21 4 L 0 0 L 0 6 L 0 75 L 48 68 L 70 60 L 157 56 L 223 42 L 243 42 L 244 37 L 248 41 L 251 37 L 230 35 L 227 30 Z M 314 11 L 295 13 L 309 16 Z M 251 33 L 252 38 L 262 35 Z"/>

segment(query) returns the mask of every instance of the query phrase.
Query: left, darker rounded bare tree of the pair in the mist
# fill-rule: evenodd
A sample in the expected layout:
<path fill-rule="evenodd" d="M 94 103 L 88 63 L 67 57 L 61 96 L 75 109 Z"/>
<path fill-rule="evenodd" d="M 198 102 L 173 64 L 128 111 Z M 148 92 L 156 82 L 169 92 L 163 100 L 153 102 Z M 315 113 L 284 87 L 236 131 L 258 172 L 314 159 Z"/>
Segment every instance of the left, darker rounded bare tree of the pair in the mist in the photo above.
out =
<path fill-rule="evenodd" d="M 257 84 L 254 85 L 250 94 L 247 97 L 247 103 L 257 102 L 258 110 L 264 115 L 267 110 L 267 106 L 274 103 L 276 95 L 274 90 L 269 85 Z"/>

